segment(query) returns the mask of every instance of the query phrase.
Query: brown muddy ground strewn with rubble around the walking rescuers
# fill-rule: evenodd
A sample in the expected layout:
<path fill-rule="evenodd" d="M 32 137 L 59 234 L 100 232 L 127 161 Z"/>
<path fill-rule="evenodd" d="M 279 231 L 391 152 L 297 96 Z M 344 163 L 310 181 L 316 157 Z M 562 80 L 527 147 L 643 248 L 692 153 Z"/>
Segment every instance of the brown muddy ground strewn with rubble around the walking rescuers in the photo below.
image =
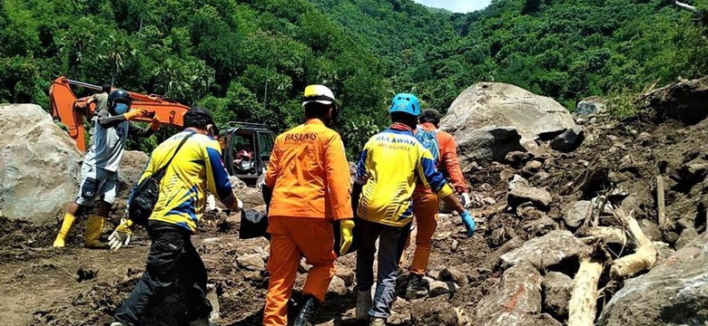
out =
<path fill-rule="evenodd" d="M 705 230 L 708 207 L 708 122 L 686 126 L 676 120 L 616 121 L 603 116 L 581 120 L 585 142 L 571 153 L 540 147 L 534 154 L 519 154 L 512 161 L 489 167 L 467 168 L 467 178 L 477 195 L 475 216 L 484 218 L 477 233 L 464 238 L 457 217 L 442 216 L 435 236 L 429 274 L 438 277 L 445 267 L 454 266 L 467 276 L 457 292 L 435 298 L 394 304 L 394 325 L 474 325 L 477 302 L 489 294 L 500 280 L 500 254 L 535 236 L 565 226 L 562 209 L 576 200 L 607 196 L 607 202 L 634 211 L 639 220 L 657 224 L 655 176 L 666 178 L 666 207 L 672 225 L 658 236 L 674 250 L 681 245 L 683 230 Z M 524 169 L 537 160 L 540 170 Z M 700 166 L 686 168 L 687 165 Z M 520 174 L 534 187 L 543 187 L 553 196 L 547 208 L 507 207 L 508 180 Z M 223 214 L 205 216 L 202 232 L 193 239 L 202 254 L 218 297 L 220 325 L 258 325 L 265 298 L 267 273 L 262 262 L 268 255 L 264 239 L 239 240 L 238 224 Z M 600 216 L 605 218 L 605 216 Z M 550 221 L 550 222 L 549 222 Z M 103 325 L 132 290 L 143 271 L 148 241 L 144 233 L 133 244 L 113 254 L 81 247 L 83 225 L 74 227 L 67 249 L 50 248 L 57 225 L 36 228 L 6 219 L 0 220 L 0 323 L 7 325 Z M 106 232 L 108 229 L 106 229 Z M 513 241 L 511 241 L 513 240 Z M 402 266 L 412 254 L 412 247 Z M 238 262 L 241 256 L 256 254 L 256 266 Z M 320 310 L 319 321 L 329 325 L 355 325 L 353 289 L 354 259 L 338 261 L 338 277 L 345 287 L 332 289 Z M 573 276 L 576 264 L 553 267 Z M 301 272 L 305 272 L 303 266 Z M 549 272 L 549 271 L 546 271 Z M 408 275 L 401 269 L 398 288 L 405 288 Z M 304 273 L 298 278 L 302 283 Z M 621 286 L 619 284 L 618 286 Z M 296 285 L 297 288 L 297 285 Z M 605 292 L 606 301 L 615 289 Z M 299 295 L 298 292 L 295 295 Z M 600 309 L 603 301 L 598 302 Z M 560 320 L 561 322 L 565 322 Z"/>

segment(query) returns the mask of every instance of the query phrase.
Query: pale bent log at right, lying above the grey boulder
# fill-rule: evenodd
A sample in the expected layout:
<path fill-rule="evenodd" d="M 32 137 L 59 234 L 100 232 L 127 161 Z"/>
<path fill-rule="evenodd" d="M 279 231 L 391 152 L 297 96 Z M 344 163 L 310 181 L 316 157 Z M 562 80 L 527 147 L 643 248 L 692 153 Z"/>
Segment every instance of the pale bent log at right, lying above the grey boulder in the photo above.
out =
<path fill-rule="evenodd" d="M 652 240 L 650 240 L 642 228 L 639 227 L 632 213 L 625 214 L 622 209 L 615 212 L 615 217 L 622 222 L 630 237 L 636 245 L 634 254 L 626 255 L 613 262 L 610 268 L 610 275 L 613 278 L 632 277 L 637 273 L 641 273 L 647 269 L 651 269 L 656 264 L 658 252 Z"/>

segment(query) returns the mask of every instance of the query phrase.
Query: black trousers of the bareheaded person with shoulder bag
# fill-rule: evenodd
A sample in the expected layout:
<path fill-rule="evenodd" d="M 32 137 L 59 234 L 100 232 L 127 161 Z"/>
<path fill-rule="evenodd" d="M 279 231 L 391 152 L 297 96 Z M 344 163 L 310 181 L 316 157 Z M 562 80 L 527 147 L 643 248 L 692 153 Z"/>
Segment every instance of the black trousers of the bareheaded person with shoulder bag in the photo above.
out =
<path fill-rule="evenodd" d="M 152 245 L 143 278 L 115 312 L 115 320 L 181 326 L 209 317 L 207 273 L 190 232 L 160 221 L 148 221 L 147 232 Z"/>

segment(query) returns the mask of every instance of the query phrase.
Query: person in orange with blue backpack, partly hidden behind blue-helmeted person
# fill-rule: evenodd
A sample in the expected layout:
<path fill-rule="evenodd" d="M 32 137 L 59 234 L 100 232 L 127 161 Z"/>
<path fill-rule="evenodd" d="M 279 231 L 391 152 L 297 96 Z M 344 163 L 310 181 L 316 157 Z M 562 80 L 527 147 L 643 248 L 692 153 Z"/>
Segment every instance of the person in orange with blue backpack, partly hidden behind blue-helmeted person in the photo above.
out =
<path fill-rule="evenodd" d="M 460 202 L 465 208 L 469 208 L 469 187 L 462 169 L 457 161 L 457 142 L 449 133 L 438 129 L 440 123 L 440 113 L 438 110 L 423 110 L 418 117 L 418 129 L 416 138 L 430 150 L 436 161 L 436 168 L 450 180 L 450 184 L 459 195 Z M 413 262 L 410 264 L 410 282 L 406 289 L 406 297 L 415 299 L 428 294 L 429 284 L 425 282 L 426 269 L 430 258 L 431 241 L 438 227 L 439 199 L 429 188 L 418 183 L 413 192 L 413 215 L 418 225 L 416 234 L 416 251 L 413 254 Z"/>

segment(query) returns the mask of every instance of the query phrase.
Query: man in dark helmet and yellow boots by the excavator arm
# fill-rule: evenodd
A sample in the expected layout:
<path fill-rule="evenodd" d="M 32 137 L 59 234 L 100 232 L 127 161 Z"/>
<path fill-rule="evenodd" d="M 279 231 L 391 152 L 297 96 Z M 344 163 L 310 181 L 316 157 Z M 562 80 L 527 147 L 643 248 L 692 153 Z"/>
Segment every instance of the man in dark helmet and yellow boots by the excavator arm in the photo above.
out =
<path fill-rule="evenodd" d="M 103 225 L 115 202 L 118 185 L 118 167 L 125 151 L 128 136 L 150 137 L 160 128 L 157 117 L 152 118 L 150 129 L 142 129 L 130 123 L 131 120 L 147 118 L 147 110 L 130 111 L 133 99 L 127 91 L 115 90 L 107 100 L 107 109 L 96 113 L 91 148 L 86 153 L 81 167 L 81 187 L 79 194 L 66 210 L 64 222 L 54 240 L 54 247 L 64 247 L 64 239 L 74 225 L 76 217 L 81 216 L 95 200 L 101 206 L 95 215 L 86 221 L 84 246 L 87 248 L 107 248 L 108 244 L 99 241 Z"/>

